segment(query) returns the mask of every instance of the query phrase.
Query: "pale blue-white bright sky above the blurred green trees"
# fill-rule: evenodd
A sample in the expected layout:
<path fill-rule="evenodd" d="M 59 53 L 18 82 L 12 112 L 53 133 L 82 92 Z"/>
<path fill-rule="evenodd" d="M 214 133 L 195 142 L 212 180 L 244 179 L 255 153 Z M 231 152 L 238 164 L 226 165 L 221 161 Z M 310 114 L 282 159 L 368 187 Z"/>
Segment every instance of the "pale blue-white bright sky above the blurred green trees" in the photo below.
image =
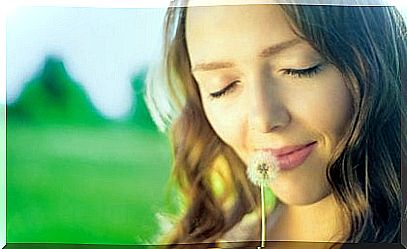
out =
<path fill-rule="evenodd" d="M 137 9 L 9 8 L 7 102 L 15 101 L 45 56 L 52 54 L 63 59 L 68 73 L 103 114 L 111 118 L 126 114 L 131 106 L 132 76 L 159 56 L 165 2 L 157 5 L 161 8 Z M 407 5 L 401 0 L 393 3 L 407 17 Z M 4 99 L 0 96 L 0 103 Z"/>

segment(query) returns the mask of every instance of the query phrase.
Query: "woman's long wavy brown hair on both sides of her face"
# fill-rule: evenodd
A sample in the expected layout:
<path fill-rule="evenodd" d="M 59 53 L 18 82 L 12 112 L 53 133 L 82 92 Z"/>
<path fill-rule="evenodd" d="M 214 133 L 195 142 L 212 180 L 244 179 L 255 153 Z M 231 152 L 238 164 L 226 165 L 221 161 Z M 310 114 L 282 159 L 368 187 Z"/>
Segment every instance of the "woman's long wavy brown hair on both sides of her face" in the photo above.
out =
<path fill-rule="evenodd" d="M 341 71 L 353 97 L 353 118 L 326 172 L 350 221 L 345 241 L 399 242 L 402 145 L 407 140 L 402 131 L 407 30 L 400 14 L 391 6 L 280 7 L 298 36 Z M 168 91 L 173 114 L 160 109 L 162 96 L 153 87 L 157 82 L 147 89 L 152 112 L 168 121 L 173 177 L 186 201 L 185 212 L 164 240 L 174 244 L 215 242 L 259 204 L 244 163 L 205 117 L 190 71 L 186 11 L 170 7 L 165 19 L 165 80 L 160 84 L 165 84 L 161 87 Z M 222 194 L 214 189 L 215 173 L 222 175 Z"/>

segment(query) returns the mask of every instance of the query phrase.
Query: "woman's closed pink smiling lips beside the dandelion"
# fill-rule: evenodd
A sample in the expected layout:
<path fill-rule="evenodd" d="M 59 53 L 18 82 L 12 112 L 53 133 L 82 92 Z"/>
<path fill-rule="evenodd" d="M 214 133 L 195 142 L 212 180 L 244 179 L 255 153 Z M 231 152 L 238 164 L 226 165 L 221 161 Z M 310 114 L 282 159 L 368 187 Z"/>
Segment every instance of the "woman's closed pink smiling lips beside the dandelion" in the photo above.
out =
<path fill-rule="evenodd" d="M 308 158 L 314 151 L 317 142 L 311 142 L 305 145 L 287 146 L 279 149 L 262 149 L 269 152 L 277 161 L 277 166 L 282 170 L 294 169 Z"/>

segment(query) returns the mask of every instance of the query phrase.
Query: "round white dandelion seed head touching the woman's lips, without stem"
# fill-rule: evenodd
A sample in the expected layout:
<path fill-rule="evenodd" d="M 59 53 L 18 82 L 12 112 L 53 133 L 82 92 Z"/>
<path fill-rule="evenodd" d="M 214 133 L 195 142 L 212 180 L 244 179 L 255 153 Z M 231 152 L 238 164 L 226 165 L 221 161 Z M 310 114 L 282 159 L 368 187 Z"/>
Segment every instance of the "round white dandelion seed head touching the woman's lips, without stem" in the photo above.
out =
<path fill-rule="evenodd" d="M 278 171 L 276 159 L 270 153 L 259 151 L 251 156 L 246 173 L 253 184 L 266 186 L 277 177 Z"/>

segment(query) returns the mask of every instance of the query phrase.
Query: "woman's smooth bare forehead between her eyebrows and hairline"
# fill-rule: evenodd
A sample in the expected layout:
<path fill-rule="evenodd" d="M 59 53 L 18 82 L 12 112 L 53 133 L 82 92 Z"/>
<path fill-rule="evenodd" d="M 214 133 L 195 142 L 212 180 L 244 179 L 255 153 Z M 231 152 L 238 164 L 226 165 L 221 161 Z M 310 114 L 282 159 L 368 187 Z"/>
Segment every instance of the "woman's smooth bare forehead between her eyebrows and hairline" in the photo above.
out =
<path fill-rule="evenodd" d="M 189 7 L 186 41 L 192 64 L 253 56 L 298 38 L 278 5 Z"/>

